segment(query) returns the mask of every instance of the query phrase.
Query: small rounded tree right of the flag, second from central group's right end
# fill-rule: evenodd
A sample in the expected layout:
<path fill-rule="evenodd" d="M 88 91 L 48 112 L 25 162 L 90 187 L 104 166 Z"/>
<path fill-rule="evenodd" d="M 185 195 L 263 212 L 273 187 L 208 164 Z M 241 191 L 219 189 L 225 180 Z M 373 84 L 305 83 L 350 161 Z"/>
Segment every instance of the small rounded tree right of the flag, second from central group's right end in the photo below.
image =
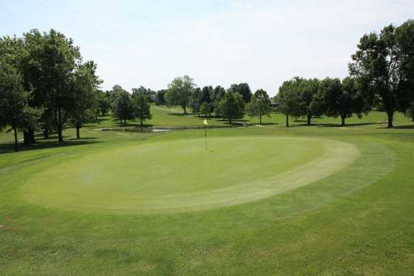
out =
<path fill-rule="evenodd" d="M 243 118 L 245 111 L 243 97 L 229 90 L 220 102 L 220 110 L 223 119 L 228 119 L 230 124 L 232 119 Z"/>

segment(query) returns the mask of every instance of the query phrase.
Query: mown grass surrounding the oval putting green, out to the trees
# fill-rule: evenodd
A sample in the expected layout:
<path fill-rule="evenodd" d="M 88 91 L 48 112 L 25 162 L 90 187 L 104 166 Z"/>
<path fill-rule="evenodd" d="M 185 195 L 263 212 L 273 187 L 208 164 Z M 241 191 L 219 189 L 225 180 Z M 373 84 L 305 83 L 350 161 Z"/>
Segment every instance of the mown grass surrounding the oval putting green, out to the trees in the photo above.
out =
<path fill-rule="evenodd" d="M 193 124 L 193 117 L 168 113 L 160 112 L 158 118 L 154 114 L 153 124 Z M 185 143 L 204 135 L 202 130 L 128 135 L 95 131 L 117 125 L 110 117 L 101 119 L 99 125 L 83 128 L 79 141 L 73 129 L 66 129 L 63 146 L 51 137 L 14 153 L 11 136 L 0 135 L 2 275 L 411 275 L 414 271 L 414 124 L 402 115 L 395 118 L 395 129 L 377 123 L 384 121 L 382 113 L 371 113 L 361 121 L 348 120 L 347 128 L 328 118 L 317 119 L 319 126 L 292 122 L 294 127 L 284 128 L 284 117 L 272 115 L 273 125 L 262 128 L 208 130 L 212 138 L 319 137 L 352 143 L 360 152 L 352 165 L 324 179 L 241 205 L 178 214 L 88 214 L 23 200 L 25 183 L 51 165 L 149 141 Z M 278 157 L 278 152 L 267 154 Z"/>

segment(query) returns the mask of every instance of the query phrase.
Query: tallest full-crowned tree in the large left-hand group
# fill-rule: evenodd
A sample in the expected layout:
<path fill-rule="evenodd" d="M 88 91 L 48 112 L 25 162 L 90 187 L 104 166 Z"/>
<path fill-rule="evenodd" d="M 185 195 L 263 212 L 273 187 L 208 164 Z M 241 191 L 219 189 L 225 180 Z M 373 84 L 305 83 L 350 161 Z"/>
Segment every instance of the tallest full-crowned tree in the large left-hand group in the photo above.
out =
<path fill-rule="evenodd" d="M 43 34 L 32 30 L 24 34 L 24 40 L 22 71 L 33 89 L 32 104 L 52 112 L 58 141 L 63 142 L 64 124 L 73 108 L 71 77 L 81 60 L 79 48 L 55 30 Z"/>

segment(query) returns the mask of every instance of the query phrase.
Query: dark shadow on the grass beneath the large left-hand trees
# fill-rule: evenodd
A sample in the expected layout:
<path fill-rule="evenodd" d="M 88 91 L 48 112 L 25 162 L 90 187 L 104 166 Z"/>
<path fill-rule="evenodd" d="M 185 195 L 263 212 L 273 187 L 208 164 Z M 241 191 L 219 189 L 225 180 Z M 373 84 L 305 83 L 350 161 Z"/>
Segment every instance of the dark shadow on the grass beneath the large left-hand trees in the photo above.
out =
<path fill-rule="evenodd" d="M 29 150 L 42 150 L 46 148 L 62 148 L 68 146 L 80 146 L 88 145 L 93 143 L 99 143 L 95 141 L 94 137 L 85 137 L 82 139 L 66 139 L 63 143 L 59 143 L 56 138 L 49 139 L 39 139 L 36 143 L 32 145 L 25 145 L 22 142 L 19 142 L 19 152 L 29 151 Z M 14 152 L 14 143 L 0 143 L 0 154 Z"/>

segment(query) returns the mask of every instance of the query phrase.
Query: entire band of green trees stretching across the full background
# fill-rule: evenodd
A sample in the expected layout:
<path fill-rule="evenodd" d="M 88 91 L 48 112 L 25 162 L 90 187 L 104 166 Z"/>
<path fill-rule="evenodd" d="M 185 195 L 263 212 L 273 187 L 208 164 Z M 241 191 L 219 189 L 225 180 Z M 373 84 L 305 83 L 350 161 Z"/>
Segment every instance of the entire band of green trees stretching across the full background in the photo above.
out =
<path fill-rule="evenodd" d="M 387 25 L 380 33 L 365 34 L 352 54 L 349 76 L 339 78 L 292 78 L 284 82 L 274 98 L 278 111 L 289 117 L 306 117 L 307 124 L 315 116 L 361 117 L 377 108 L 387 113 L 388 126 L 400 111 L 414 121 L 414 21 L 395 27 Z M 62 142 L 66 125 L 80 128 L 97 119 L 112 115 L 121 124 L 138 118 L 151 119 L 151 103 L 181 106 L 184 114 L 191 108 L 198 116 L 241 119 L 246 114 L 262 124 L 272 109 L 269 95 L 263 89 L 252 93 L 245 82 L 221 86 L 197 87 L 189 76 L 175 78 L 167 87 L 153 91 L 145 87 L 128 93 L 115 85 L 110 91 L 99 90 L 101 80 L 97 65 L 84 61 L 80 48 L 71 38 L 50 30 L 31 30 L 22 37 L 0 38 L 0 131 L 10 127 L 23 133 L 26 144 L 35 142 L 35 132 L 49 137 L 56 131 Z"/>

